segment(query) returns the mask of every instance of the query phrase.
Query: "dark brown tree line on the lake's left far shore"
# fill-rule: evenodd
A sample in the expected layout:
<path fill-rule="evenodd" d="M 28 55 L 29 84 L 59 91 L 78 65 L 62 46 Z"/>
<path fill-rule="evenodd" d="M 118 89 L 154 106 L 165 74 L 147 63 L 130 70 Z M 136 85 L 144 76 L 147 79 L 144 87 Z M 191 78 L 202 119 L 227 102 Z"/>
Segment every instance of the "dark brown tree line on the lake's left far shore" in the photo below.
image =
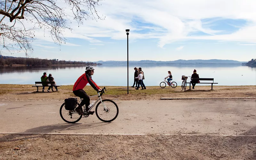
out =
<path fill-rule="evenodd" d="M 0 65 L 29 65 L 29 66 L 51 66 L 51 65 L 101 65 L 100 63 L 66 60 L 47 60 L 39 58 L 7 57 L 0 55 Z"/>

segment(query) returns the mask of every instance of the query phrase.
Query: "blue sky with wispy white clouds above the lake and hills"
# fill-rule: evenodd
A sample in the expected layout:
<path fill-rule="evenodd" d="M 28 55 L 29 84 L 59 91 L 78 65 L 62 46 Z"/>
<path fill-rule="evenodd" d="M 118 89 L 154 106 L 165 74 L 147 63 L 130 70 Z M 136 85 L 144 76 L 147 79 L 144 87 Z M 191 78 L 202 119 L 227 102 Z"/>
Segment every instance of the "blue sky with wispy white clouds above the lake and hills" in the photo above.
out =
<path fill-rule="evenodd" d="M 58 0 L 60 1 L 60 0 Z M 54 44 L 39 29 L 33 58 L 107 61 L 256 58 L 255 0 L 104 0 L 97 7 L 105 20 L 86 20 L 65 30 L 66 44 Z M 25 53 L 4 53 L 25 57 Z"/>

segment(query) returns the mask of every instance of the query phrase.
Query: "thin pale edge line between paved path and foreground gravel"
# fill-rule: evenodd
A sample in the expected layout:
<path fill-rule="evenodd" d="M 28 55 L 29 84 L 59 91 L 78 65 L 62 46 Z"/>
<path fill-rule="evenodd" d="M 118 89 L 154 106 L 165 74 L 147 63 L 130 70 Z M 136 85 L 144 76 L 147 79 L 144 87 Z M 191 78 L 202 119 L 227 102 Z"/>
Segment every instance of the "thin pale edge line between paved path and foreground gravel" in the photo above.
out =
<path fill-rule="evenodd" d="M 0 134 L 57 134 L 57 135 L 164 135 L 164 136 L 252 136 L 252 134 L 146 134 L 146 133 L 42 133 L 42 132 L 0 132 Z"/>

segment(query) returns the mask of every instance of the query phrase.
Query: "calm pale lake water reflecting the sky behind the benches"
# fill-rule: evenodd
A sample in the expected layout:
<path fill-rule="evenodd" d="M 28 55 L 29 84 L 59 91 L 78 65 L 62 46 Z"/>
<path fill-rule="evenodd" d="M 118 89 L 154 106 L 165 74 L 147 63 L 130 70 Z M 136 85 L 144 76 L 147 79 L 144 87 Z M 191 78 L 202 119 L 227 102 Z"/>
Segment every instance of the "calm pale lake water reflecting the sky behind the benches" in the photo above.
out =
<path fill-rule="evenodd" d="M 181 85 L 181 76 L 191 76 L 194 69 L 200 78 L 214 78 L 214 82 L 219 83 L 216 85 L 256 85 L 256 68 L 248 66 L 137 65 L 129 67 L 129 86 L 133 84 L 134 67 L 141 67 L 144 71 L 146 86 L 159 86 L 168 76 L 168 70 L 172 72 L 173 81 Z M 51 73 L 58 85 L 73 85 L 84 70 L 85 66 L 0 67 L 0 84 L 34 84 L 41 81 L 40 77 L 47 72 L 47 76 Z M 127 86 L 127 66 L 96 66 L 92 79 L 100 86 Z"/>

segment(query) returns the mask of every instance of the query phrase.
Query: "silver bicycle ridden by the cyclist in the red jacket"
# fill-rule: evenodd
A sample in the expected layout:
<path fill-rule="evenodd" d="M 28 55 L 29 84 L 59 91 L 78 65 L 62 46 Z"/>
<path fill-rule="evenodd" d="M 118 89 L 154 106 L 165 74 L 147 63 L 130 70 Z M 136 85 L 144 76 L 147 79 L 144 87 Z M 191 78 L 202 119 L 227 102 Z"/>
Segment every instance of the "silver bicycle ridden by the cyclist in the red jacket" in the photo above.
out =
<path fill-rule="evenodd" d="M 104 87 L 101 92 L 98 92 L 98 94 L 91 96 L 95 97 L 98 96 L 98 99 L 92 104 L 90 109 L 88 111 L 85 110 L 85 105 L 83 106 L 83 115 L 78 114 L 76 112 L 75 108 L 80 106 L 79 102 L 82 101 L 83 99 L 80 98 L 80 101 L 76 104 L 76 107 L 74 110 L 66 110 L 65 109 L 65 102 L 61 105 L 60 107 L 60 117 L 67 123 L 76 123 L 78 122 L 82 116 L 88 117 L 89 116 L 89 111 L 95 106 L 95 104 L 100 100 L 100 102 L 97 104 L 95 108 L 95 113 L 96 116 L 103 122 L 111 122 L 114 121 L 118 115 L 118 107 L 116 103 L 113 100 L 102 100 L 101 96 L 104 91 L 107 91 L 106 88 Z"/>

